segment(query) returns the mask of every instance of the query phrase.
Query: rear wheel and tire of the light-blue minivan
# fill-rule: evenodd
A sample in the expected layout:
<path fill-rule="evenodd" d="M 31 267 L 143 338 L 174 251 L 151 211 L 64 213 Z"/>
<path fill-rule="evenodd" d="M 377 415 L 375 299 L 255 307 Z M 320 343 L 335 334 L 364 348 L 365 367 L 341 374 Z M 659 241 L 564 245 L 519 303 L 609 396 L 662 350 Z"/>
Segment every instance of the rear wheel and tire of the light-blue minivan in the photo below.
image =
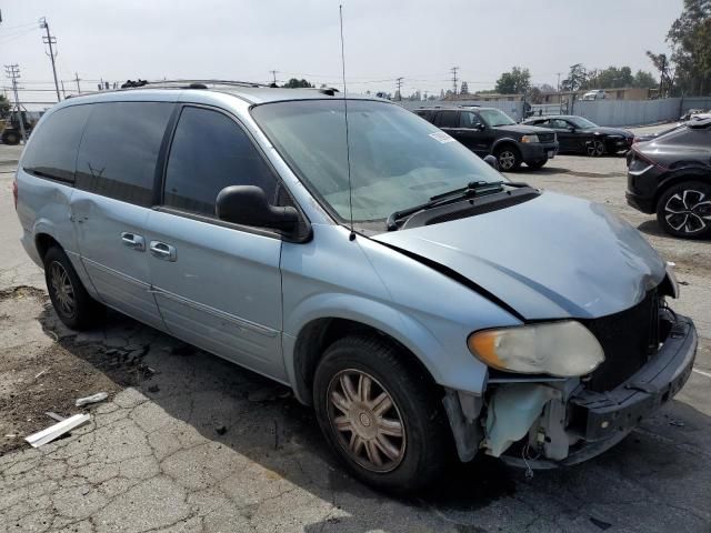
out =
<path fill-rule="evenodd" d="M 44 254 L 47 291 L 59 319 L 72 330 L 84 330 L 103 316 L 106 308 L 92 299 L 59 247 Z"/>

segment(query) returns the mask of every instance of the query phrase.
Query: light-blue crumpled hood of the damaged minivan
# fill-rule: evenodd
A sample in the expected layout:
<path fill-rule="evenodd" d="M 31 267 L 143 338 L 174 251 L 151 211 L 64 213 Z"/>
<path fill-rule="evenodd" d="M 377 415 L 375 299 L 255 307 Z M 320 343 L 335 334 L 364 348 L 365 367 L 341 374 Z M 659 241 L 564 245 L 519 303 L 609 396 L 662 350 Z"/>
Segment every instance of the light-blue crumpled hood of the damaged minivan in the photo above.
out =
<path fill-rule="evenodd" d="M 600 204 L 553 192 L 373 239 L 455 271 L 527 320 L 617 313 L 665 275 L 634 228 Z"/>

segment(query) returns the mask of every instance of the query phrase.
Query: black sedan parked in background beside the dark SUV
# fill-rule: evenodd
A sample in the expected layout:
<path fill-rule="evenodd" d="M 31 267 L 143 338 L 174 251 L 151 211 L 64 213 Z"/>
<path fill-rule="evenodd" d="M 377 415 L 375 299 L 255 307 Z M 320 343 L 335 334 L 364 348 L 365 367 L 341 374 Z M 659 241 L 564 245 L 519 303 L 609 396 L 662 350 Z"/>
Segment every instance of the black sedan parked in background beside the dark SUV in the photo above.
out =
<path fill-rule="evenodd" d="M 523 123 L 553 130 L 558 135 L 561 153 L 582 153 L 599 158 L 605 153 L 627 152 L 634 139 L 629 130 L 601 127 L 584 117 L 573 114 L 532 117 Z"/>

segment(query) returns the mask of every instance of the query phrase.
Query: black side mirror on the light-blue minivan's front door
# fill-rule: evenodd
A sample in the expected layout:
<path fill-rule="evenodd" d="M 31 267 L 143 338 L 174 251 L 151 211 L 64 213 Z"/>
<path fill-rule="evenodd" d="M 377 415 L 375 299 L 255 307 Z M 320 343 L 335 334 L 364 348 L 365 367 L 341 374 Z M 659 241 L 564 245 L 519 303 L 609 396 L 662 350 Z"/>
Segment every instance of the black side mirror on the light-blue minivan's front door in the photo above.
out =
<path fill-rule="evenodd" d="M 299 213 L 294 208 L 270 205 L 263 189 L 254 185 L 230 185 L 218 194 L 216 213 L 220 220 L 242 225 L 291 231 Z"/>

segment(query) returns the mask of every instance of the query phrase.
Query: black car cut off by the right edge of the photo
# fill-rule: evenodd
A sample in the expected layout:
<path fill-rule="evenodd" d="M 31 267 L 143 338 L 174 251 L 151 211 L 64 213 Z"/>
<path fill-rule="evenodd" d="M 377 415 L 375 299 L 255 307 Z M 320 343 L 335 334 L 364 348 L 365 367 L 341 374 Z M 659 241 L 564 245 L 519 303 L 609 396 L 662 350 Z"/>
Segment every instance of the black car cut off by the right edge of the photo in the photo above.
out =
<path fill-rule="evenodd" d="M 672 235 L 711 237 L 711 119 L 635 144 L 627 164 L 630 205 Z"/>

